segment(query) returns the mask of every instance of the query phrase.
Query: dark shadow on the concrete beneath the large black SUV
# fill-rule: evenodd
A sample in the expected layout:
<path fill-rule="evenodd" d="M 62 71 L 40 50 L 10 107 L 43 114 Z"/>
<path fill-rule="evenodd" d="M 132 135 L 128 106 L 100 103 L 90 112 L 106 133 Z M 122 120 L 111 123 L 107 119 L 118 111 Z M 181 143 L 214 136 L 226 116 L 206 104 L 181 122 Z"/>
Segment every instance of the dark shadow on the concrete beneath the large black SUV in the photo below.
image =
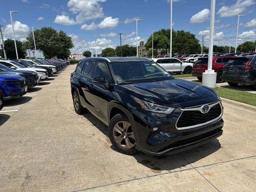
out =
<path fill-rule="evenodd" d="M 82 115 L 96 128 L 98 128 L 98 130 L 108 136 L 108 126 L 106 126 L 106 124 L 98 120 L 98 118 L 96 118 L 88 111 L 86 111 Z M 151 156 L 143 152 L 137 152 L 132 156 L 136 159 L 138 163 L 150 168 L 152 172 L 159 173 L 162 170 L 174 170 L 186 166 L 189 163 L 196 162 L 200 159 L 205 158 L 206 156 L 209 156 L 210 154 L 213 154 L 214 152 L 219 150 L 220 147 L 221 146 L 219 140 L 214 139 L 209 143 L 178 154 L 172 154 L 167 156 Z M 119 153 L 113 145 L 110 148 Z"/>

